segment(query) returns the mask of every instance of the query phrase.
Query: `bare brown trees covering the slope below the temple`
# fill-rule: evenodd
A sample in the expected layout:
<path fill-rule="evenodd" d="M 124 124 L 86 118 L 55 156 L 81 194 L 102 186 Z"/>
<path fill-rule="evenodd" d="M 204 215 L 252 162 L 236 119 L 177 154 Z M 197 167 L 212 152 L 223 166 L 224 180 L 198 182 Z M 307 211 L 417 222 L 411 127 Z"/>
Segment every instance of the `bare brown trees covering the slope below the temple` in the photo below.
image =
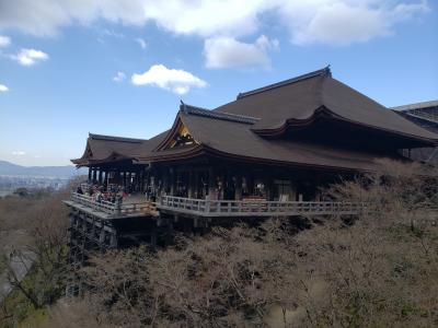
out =
<path fill-rule="evenodd" d="M 30 321 L 7 300 L 3 327 L 436 327 L 437 175 L 387 167 L 325 190 L 369 203 L 358 216 L 272 218 L 180 235 L 165 249 L 110 251 L 80 270 L 87 288 L 69 300 L 60 292 L 60 196 L 38 199 L 31 212 L 22 206 L 30 199 L 1 200 L 2 213 L 32 218 L 28 246 L 37 255 L 14 300 L 44 309 L 39 323 Z M 20 221 L 3 218 L 2 229 Z"/>

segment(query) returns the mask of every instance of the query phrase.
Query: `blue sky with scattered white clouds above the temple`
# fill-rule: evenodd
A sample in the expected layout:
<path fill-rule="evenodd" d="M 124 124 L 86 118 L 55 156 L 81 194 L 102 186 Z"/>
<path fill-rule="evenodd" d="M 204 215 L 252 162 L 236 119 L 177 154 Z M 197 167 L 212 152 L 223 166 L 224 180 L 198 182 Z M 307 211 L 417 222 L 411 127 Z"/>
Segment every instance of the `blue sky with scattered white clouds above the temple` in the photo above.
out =
<path fill-rule="evenodd" d="M 422 0 L 0 0 L 0 160 L 65 165 L 88 132 L 148 139 L 332 66 L 385 106 L 438 98 L 438 7 Z"/>

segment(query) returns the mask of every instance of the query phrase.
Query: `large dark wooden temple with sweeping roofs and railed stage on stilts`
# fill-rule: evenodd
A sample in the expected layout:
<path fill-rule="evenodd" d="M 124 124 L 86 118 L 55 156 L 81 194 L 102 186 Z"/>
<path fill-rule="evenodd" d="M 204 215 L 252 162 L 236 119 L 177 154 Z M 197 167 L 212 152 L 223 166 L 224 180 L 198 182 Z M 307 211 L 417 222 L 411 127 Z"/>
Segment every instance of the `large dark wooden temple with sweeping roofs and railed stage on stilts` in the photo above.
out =
<path fill-rule="evenodd" d="M 355 213 L 361 204 L 326 201 L 321 187 L 379 169 L 381 159 L 408 161 L 403 150 L 437 141 L 330 68 L 214 109 L 182 103 L 170 129 L 151 139 L 89 134 L 72 163 L 89 167 L 90 184 L 131 196 L 113 203 L 73 194 L 72 243 L 155 244 L 173 230 L 241 218 Z"/>

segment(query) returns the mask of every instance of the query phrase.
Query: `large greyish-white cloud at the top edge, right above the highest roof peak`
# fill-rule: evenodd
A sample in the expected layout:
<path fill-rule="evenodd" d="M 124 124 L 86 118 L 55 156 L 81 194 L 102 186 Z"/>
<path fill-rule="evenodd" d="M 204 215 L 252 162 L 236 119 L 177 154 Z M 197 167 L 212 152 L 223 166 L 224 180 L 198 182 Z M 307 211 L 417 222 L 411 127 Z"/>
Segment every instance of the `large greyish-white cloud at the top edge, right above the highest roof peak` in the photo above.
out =
<path fill-rule="evenodd" d="M 399 4 L 395 4 L 399 2 Z M 394 33 L 394 25 L 428 11 L 427 1 L 288 1 L 279 13 L 293 44 L 348 45 Z"/>

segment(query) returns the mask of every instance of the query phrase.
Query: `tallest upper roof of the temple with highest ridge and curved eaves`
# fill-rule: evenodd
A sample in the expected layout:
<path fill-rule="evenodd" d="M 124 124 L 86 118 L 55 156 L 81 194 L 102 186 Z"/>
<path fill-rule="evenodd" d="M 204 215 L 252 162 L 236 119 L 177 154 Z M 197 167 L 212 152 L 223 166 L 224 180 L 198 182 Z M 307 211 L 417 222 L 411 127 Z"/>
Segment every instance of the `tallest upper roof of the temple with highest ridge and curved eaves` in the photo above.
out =
<path fill-rule="evenodd" d="M 328 68 L 240 94 L 215 112 L 257 117 L 252 130 L 261 134 L 310 125 L 316 115 L 325 115 L 426 143 L 438 140 L 437 134 L 333 79 Z"/>

